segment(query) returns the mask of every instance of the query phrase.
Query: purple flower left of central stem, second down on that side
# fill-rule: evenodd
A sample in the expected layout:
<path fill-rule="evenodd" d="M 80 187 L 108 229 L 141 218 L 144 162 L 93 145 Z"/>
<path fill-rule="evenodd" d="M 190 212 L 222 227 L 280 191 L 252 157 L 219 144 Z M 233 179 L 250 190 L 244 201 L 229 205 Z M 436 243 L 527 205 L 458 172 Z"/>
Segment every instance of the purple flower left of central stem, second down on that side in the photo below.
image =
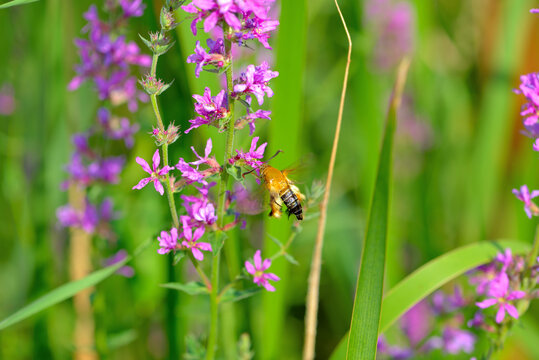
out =
<path fill-rule="evenodd" d="M 227 102 L 224 90 L 221 90 L 215 97 L 212 97 L 211 90 L 207 87 L 204 90 L 204 95 L 193 95 L 193 98 L 197 101 L 195 111 L 200 116 L 194 120 L 189 120 L 191 127 L 185 130 L 186 134 L 201 125 L 215 123 L 229 115 L 226 108 Z"/>

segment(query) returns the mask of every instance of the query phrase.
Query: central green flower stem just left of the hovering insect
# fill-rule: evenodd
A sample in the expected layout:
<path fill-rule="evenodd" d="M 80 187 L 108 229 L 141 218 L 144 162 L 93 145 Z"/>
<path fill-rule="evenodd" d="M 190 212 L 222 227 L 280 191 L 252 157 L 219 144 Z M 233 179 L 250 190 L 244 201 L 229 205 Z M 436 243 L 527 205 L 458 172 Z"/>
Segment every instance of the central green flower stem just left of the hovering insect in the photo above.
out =
<path fill-rule="evenodd" d="M 232 42 L 227 38 L 231 29 L 224 25 L 223 33 L 225 34 L 225 53 L 228 59 L 231 59 L 230 50 L 232 48 Z M 231 94 L 233 91 L 232 84 L 232 60 L 230 66 L 226 70 L 226 86 L 229 106 L 229 120 L 227 125 L 227 136 L 225 143 L 225 154 L 223 167 L 226 167 L 228 159 L 232 155 L 232 147 L 234 145 L 234 99 Z M 219 221 L 219 228 L 222 229 L 225 222 L 225 199 L 226 199 L 226 187 L 228 182 L 228 172 L 223 169 L 221 172 L 221 178 L 219 179 L 218 186 L 218 200 L 217 200 L 217 218 Z M 222 231 L 222 230 L 218 230 Z M 218 241 L 221 241 L 221 237 L 217 237 Z M 215 357 L 215 350 L 217 344 L 217 329 L 218 329 L 218 315 L 219 315 L 219 263 L 220 263 L 221 251 L 214 255 L 212 260 L 212 272 L 211 272 L 211 292 L 210 292 L 210 330 L 208 334 L 208 347 L 206 350 L 206 360 L 213 360 Z"/>

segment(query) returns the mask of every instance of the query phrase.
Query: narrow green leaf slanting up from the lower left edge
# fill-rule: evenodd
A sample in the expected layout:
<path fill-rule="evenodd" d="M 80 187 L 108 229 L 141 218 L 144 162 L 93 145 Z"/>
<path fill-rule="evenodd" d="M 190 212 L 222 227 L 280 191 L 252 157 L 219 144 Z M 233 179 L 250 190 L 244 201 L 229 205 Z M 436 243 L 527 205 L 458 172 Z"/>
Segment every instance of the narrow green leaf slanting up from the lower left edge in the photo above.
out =
<path fill-rule="evenodd" d="M 43 295 L 39 299 L 26 305 L 22 309 L 16 311 L 12 315 L 2 320 L 2 322 L 0 322 L 0 330 L 3 330 L 13 324 L 16 324 L 19 321 L 22 321 L 42 310 L 45 310 L 48 307 L 56 305 L 61 301 L 69 299 L 81 290 L 100 283 L 101 281 L 114 274 L 116 270 L 124 266 L 125 263 L 127 263 L 130 259 L 131 257 L 127 257 L 119 263 L 95 271 L 80 280 L 69 282 L 50 291 L 49 293 Z"/>

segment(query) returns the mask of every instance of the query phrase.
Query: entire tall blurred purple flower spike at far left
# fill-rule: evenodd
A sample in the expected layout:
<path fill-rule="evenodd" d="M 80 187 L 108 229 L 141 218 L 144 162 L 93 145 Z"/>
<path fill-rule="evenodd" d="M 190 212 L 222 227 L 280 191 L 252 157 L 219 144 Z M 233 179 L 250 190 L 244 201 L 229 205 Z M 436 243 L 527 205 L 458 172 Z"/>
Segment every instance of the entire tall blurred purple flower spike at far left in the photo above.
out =
<path fill-rule="evenodd" d="M 141 16 L 144 8 L 142 0 L 117 0 L 105 4 L 107 21 L 100 19 L 95 5 L 84 13 L 87 24 L 82 32 L 87 34 L 87 38 L 75 40 L 80 64 L 75 67 L 77 74 L 68 89 L 76 90 L 83 82 L 91 80 L 102 106 L 92 127 L 72 138 L 75 150 L 65 167 L 69 178 L 62 184 L 64 190 L 76 186 L 86 191 L 92 186 L 119 182 L 124 157 L 107 154 L 104 147 L 95 144 L 102 143 L 104 138 L 107 141 L 121 141 L 126 148 L 133 147 L 138 124 L 131 124 L 128 118 L 114 115 L 113 108 L 127 105 L 130 111 L 135 111 L 138 102 L 147 99 L 144 93 L 137 90 L 137 80 L 131 75 L 131 70 L 138 66 L 150 66 L 151 58 L 141 54 L 134 42 L 127 41 L 121 35 L 125 33 L 127 20 Z M 105 104 L 110 107 L 105 107 Z M 114 219 L 112 208 L 110 199 L 102 201 L 100 205 L 86 199 L 80 208 L 71 204 L 58 208 L 58 223 L 63 227 L 77 227 L 111 239 L 113 233 L 108 222 Z"/>

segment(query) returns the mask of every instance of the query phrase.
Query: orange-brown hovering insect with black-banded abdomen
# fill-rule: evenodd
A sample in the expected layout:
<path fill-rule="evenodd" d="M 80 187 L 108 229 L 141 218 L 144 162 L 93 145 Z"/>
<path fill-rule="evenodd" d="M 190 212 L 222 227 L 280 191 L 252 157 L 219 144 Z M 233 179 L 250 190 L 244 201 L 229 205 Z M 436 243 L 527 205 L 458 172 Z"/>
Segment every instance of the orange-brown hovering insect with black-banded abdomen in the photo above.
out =
<path fill-rule="evenodd" d="M 288 217 L 293 214 L 298 220 L 303 220 L 301 201 L 305 200 L 305 196 L 303 196 L 298 187 L 286 176 L 288 171 L 278 170 L 268 164 L 261 165 L 259 170 L 260 178 L 264 181 L 264 186 L 270 194 L 271 211 L 269 216 L 280 218 L 281 209 L 284 204 L 286 205 Z M 244 176 L 248 173 L 245 173 Z"/>

